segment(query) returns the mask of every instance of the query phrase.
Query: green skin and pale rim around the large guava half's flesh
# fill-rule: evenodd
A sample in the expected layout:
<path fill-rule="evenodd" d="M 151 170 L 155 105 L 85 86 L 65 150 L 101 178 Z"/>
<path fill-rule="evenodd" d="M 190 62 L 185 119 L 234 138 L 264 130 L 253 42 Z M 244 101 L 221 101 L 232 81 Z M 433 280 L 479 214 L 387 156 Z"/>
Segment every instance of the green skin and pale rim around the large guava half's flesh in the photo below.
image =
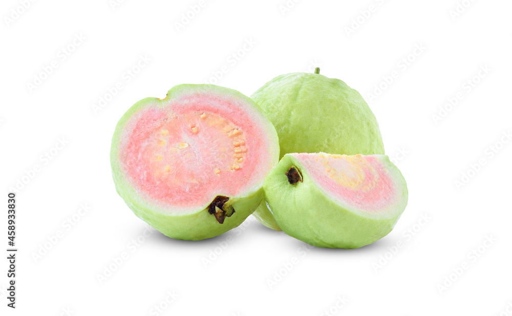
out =
<path fill-rule="evenodd" d="M 240 196 L 229 197 L 228 204 L 231 204 L 235 213 L 231 217 L 226 217 L 223 224 L 220 224 L 214 215 L 207 211 L 207 205 L 204 205 L 193 212 L 186 214 L 166 214 L 162 213 L 159 207 L 146 201 L 140 194 L 133 188 L 124 176 L 121 166 L 119 164 L 119 143 L 123 127 L 126 122 L 140 109 L 148 105 L 165 106 L 170 99 L 179 98 L 183 93 L 187 92 L 200 92 L 208 90 L 212 93 L 220 93 L 223 95 L 234 96 L 241 99 L 245 103 L 252 106 L 256 112 L 259 112 L 264 118 L 266 115 L 261 109 L 245 95 L 234 91 L 232 89 L 210 85 L 210 84 L 182 84 L 177 85 L 169 90 L 167 97 L 163 100 L 158 98 L 146 98 L 134 104 L 126 113 L 121 117 L 117 123 L 114 136 L 112 138 L 112 147 L 110 153 L 110 161 L 112 166 L 112 175 L 117 193 L 124 199 L 126 205 L 137 215 L 139 218 L 146 221 L 152 227 L 163 233 L 168 237 L 183 240 L 201 240 L 211 238 L 223 234 L 230 229 L 238 227 L 249 215 L 251 215 L 255 208 L 258 207 L 263 199 L 263 189 L 261 185 L 253 189 L 242 192 Z M 268 131 L 268 136 L 271 143 L 275 144 L 269 155 L 272 156 L 274 166 L 278 162 L 279 145 L 278 136 L 274 127 L 268 120 L 264 120 L 265 129 Z M 262 180 L 263 184 L 263 180 Z M 219 192 L 216 195 L 223 195 Z M 216 196 L 215 195 L 215 196 Z M 212 196 L 212 199 L 215 198 Z"/>

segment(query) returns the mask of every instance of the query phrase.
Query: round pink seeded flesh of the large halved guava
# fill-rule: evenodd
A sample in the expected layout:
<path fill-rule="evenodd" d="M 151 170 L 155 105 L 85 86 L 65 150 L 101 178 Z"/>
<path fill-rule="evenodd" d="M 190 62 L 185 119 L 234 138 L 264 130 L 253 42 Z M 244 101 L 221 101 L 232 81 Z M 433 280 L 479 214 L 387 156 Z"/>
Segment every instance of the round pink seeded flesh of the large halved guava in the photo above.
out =
<path fill-rule="evenodd" d="M 137 112 L 119 155 L 137 191 L 166 206 L 205 206 L 260 183 L 271 162 L 260 117 L 240 100 L 190 94 Z"/>

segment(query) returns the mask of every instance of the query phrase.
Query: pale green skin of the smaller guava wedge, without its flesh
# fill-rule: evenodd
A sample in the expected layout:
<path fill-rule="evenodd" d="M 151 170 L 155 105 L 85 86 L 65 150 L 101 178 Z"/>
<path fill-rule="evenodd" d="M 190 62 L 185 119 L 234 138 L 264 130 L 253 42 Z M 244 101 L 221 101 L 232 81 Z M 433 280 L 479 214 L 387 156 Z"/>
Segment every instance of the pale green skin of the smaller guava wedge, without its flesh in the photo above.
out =
<path fill-rule="evenodd" d="M 389 162 L 389 159 L 388 159 Z M 391 164 L 391 162 L 389 162 Z M 291 166 L 302 172 L 303 182 L 288 182 L 285 173 Z M 400 171 L 395 172 L 403 179 Z M 309 177 L 307 170 L 293 156 L 285 155 L 263 185 L 265 199 L 279 227 L 288 235 L 313 246 L 354 249 L 388 235 L 407 205 L 407 185 L 400 212 L 390 218 L 363 216 L 337 204 Z"/>

